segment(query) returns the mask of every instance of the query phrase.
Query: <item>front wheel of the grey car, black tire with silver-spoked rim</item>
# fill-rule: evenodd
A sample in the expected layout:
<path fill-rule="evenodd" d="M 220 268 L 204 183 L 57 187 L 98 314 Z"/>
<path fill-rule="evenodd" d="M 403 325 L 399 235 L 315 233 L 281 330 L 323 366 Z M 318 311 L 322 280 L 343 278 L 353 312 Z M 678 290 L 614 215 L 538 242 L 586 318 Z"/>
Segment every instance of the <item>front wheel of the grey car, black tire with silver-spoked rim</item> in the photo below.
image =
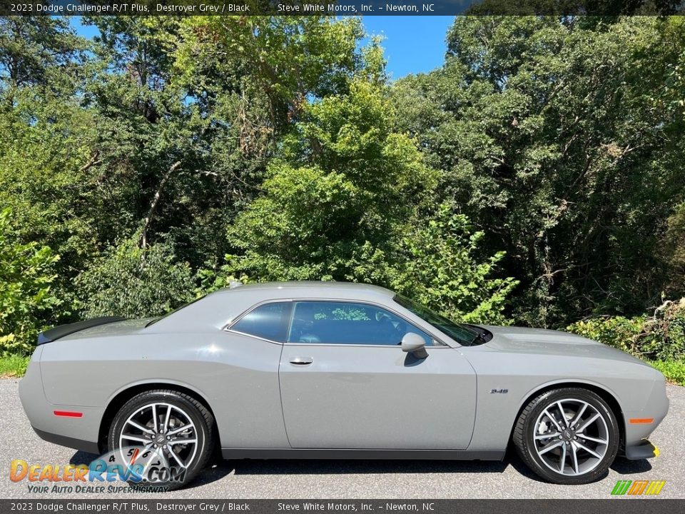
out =
<path fill-rule="evenodd" d="M 559 401 L 562 402 L 562 407 L 558 407 L 559 404 L 557 402 Z M 594 411 L 592 410 L 592 408 L 594 408 L 596 413 L 601 416 L 601 419 L 597 418 L 597 425 L 588 425 L 586 430 L 599 428 L 599 430 L 602 430 L 602 434 L 597 435 L 594 433 L 592 435 L 594 435 L 595 439 L 605 440 L 606 443 L 599 444 L 586 440 L 583 438 L 583 433 L 581 431 L 575 433 L 575 428 L 572 429 L 572 422 L 574 421 L 574 419 L 572 419 L 573 413 L 568 413 L 566 411 L 568 408 L 572 411 L 574 405 L 577 405 L 577 410 L 580 410 L 582 408 L 582 403 L 589 404 L 589 406 L 586 407 L 586 412 L 589 409 L 589 412 L 594 415 Z M 554 420 L 550 419 L 549 416 L 547 416 L 547 413 L 544 412 L 546 409 L 547 413 L 552 413 L 554 420 L 557 420 L 562 428 L 568 430 L 559 430 L 556 425 L 554 425 Z M 565 418 L 563 419 L 561 418 L 561 415 L 559 415 L 562 409 L 564 410 L 565 415 Z M 589 420 L 589 418 L 592 418 L 592 415 L 589 415 L 584 419 Z M 571 416 L 571 418 L 569 418 L 569 416 Z M 542 432 L 539 431 L 541 425 L 539 420 L 541 419 L 541 423 L 544 423 L 545 426 L 549 425 L 549 433 L 552 433 L 552 430 L 554 430 L 554 433 L 557 435 L 539 440 L 541 436 L 544 437 L 547 433 L 544 430 Z M 602 420 L 604 423 L 602 423 Z M 582 428 L 582 423 L 577 421 L 575 427 Z M 571 429 L 573 432 L 570 431 Z M 588 435 L 590 434 L 587 433 L 586 437 Z M 535 439 L 536 436 L 538 440 Z M 575 445 L 574 438 L 577 440 L 577 443 L 582 443 L 585 448 L 590 448 L 596 452 L 597 455 L 602 455 L 601 458 L 597 458 Z M 561 440 L 559 441 L 559 439 Z M 536 475 L 544 480 L 565 485 L 591 483 L 607 473 L 609 466 L 612 465 L 618 453 L 619 439 L 620 432 L 616 416 L 607 402 L 596 393 L 582 388 L 559 388 L 549 390 L 546 393 L 542 393 L 536 398 L 533 398 L 533 400 L 531 400 L 522 410 L 521 415 L 519 415 L 513 433 L 514 445 L 524 463 L 526 463 Z M 553 447 L 553 449 L 547 450 L 546 445 Z M 539 454 L 539 451 L 541 450 L 544 453 L 544 458 Z M 544 450 L 546 450 L 546 452 Z M 557 459 L 556 465 L 554 464 L 554 459 Z M 582 464 L 579 464 L 581 460 Z M 564 470 L 568 468 L 568 473 L 577 474 L 562 474 L 562 472 L 559 471 L 559 468 Z M 583 468 L 586 468 L 587 470 L 583 470 Z"/>

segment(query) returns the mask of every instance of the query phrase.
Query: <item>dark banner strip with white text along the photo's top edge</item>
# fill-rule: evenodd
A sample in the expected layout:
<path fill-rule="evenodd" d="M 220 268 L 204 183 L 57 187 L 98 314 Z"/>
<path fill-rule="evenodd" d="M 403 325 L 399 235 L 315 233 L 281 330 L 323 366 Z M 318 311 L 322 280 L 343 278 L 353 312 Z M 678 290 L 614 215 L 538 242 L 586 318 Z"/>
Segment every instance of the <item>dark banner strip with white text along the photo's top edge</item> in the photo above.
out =
<path fill-rule="evenodd" d="M 619 16 L 685 12 L 685 0 L 0 0 L 0 16 Z"/>

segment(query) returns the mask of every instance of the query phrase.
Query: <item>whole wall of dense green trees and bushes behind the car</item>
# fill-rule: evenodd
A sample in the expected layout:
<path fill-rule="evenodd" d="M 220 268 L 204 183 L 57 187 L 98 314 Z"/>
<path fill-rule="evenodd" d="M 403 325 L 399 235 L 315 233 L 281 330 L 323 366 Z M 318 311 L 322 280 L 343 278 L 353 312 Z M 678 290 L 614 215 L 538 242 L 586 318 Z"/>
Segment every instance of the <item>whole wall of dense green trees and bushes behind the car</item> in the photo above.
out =
<path fill-rule="evenodd" d="M 4 351 L 310 279 L 681 355 L 684 19 L 459 17 L 396 82 L 357 18 L 83 21 L 0 18 Z"/>

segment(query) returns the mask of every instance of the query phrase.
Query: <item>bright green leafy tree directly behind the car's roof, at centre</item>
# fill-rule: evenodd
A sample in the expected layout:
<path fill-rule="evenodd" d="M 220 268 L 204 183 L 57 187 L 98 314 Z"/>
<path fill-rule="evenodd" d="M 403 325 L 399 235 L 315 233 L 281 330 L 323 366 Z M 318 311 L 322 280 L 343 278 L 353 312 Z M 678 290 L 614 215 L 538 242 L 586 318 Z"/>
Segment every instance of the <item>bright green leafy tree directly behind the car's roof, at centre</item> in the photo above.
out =
<path fill-rule="evenodd" d="M 284 158 L 269 168 L 257 198 L 229 239 L 233 271 L 265 279 L 372 280 L 370 253 L 392 243 L 435 172 L 407 136 L 390 129 L 392 104 L 377 86 L 352 81 L 345 95 L 306 107 Z"/>

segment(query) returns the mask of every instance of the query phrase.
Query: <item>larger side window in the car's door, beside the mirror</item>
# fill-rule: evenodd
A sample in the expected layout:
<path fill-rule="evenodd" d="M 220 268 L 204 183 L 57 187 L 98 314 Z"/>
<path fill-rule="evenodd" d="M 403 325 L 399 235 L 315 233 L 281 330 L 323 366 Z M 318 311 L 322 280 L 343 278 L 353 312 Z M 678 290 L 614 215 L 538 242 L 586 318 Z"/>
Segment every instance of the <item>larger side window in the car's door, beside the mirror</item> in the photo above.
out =
<path fill-rule="evenodd" d="M 288 343 L 328 343 L 399 346 L 407 332 L 432 338 L 384 308 L 366 303 L 296 302 Z"/>

